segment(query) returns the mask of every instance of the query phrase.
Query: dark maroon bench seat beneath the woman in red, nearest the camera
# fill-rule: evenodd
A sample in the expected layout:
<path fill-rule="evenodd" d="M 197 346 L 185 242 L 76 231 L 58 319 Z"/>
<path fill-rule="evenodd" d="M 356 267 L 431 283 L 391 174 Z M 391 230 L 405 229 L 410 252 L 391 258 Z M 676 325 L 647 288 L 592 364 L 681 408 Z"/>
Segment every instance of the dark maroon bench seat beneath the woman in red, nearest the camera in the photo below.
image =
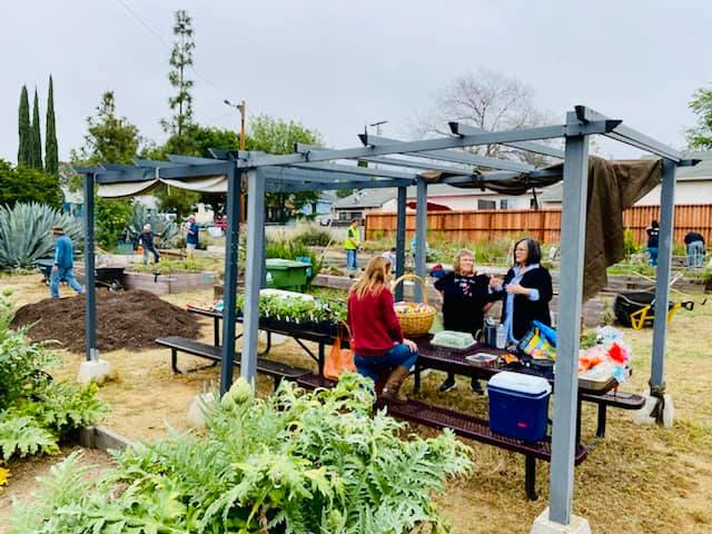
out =
<path fill-rule="evenodd" d="M 319 375 L 309 374 L 297 378 L 297 384 L 305 389 L 315 389 L 317 387 L 333 387 L 336 383 Z M 537 443 L 525 443 L 520 439 L 512 439 L 500 434 L 494 434 L 490 429 L 490 422 L 486 419 L 417 400 L 386 403 L 378 399 L 376 407 L 386 407 L 388 415 L 399 419 L 432 428 L 449 428 L 461 437 L 524 455 L 524 488 L 526 496 L 532 501 L 538 498 L 536 493 L 536 461 L 551 462 L 552 448 L 550 437 Z M 587 454 L 589 448 L 585 445 L 577 445 L 574 456 L 575 465 L 581 464 Z"/>

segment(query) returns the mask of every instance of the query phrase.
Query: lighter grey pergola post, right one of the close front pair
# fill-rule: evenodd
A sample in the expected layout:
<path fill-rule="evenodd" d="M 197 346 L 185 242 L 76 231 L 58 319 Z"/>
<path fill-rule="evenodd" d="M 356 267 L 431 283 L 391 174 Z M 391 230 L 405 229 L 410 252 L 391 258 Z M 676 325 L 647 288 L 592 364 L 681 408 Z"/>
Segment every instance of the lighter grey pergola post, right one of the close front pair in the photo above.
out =
<path fill-rule="evenodd" d="M 259 330 L 259 288 L 261 286 L 265 220 L 265 179 L 261 170 L 247 177 L 247 266 L 245 270 L 245 310 L 243 319 L 241 373 L 254 384 L 257 372 L 257 335 Z"/>

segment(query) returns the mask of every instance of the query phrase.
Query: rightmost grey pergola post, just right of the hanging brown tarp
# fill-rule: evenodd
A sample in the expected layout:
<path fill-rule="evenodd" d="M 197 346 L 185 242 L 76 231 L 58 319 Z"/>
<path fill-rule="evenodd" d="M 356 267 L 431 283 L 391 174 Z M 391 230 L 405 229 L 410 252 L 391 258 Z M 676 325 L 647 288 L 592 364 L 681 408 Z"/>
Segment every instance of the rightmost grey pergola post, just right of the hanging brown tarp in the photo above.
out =
<path fill-rule="evenodd" d="M 650 376 L 650 395 L 657 422 L 663 422 L 663 412 L 670 414 L 665 424 L 672 425 L 672 405 L 665 395 L 665 337 L 668 335 L 668 306 L 675 217 L 675 164 L 663 159 L 663 177 L 660 195 L 660 237 L 655 283 L 655 322 L 653 324 L 653 357 Z"/>

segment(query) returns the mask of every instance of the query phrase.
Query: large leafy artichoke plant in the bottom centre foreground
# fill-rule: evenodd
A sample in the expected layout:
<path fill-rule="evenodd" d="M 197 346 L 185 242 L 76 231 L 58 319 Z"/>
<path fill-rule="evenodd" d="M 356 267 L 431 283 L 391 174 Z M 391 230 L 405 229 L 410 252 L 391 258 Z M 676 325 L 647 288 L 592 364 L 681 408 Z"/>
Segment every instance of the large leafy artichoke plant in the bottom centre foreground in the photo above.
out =
<path fill-rule="evenodd" d="M 404 423 L 372 414 L 369 384 L 346 374 L 305 394 L 284 383 L 263 400 L 240 378 L 205 407 L 204 437 L 134 446 L 92 482 L 70 456 L 16 507 L 12 532 L 451 532 L 432 497 L 469 471 L 469 448 L 451 432 L 400 437 Z"/>

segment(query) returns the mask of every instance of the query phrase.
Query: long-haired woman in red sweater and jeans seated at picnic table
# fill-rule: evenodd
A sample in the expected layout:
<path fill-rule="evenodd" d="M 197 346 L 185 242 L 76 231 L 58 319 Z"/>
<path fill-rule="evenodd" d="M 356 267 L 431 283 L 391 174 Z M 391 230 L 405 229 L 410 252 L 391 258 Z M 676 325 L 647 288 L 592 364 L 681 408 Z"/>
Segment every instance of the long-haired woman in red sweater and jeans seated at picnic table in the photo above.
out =
<path fill-rule="evenodd" d="M 363 376 L 374 380 L 390 372 L 380 396 L 405 402 L 400 393 L 418 357 L 415 343 L 403 337 L 398 317 L 393 309 L 393 294 L 388 289 L 390 261 L 372 258 L 366 271 L 348 291 L 348 324 L 354 338 L 354 363 Z"/>

